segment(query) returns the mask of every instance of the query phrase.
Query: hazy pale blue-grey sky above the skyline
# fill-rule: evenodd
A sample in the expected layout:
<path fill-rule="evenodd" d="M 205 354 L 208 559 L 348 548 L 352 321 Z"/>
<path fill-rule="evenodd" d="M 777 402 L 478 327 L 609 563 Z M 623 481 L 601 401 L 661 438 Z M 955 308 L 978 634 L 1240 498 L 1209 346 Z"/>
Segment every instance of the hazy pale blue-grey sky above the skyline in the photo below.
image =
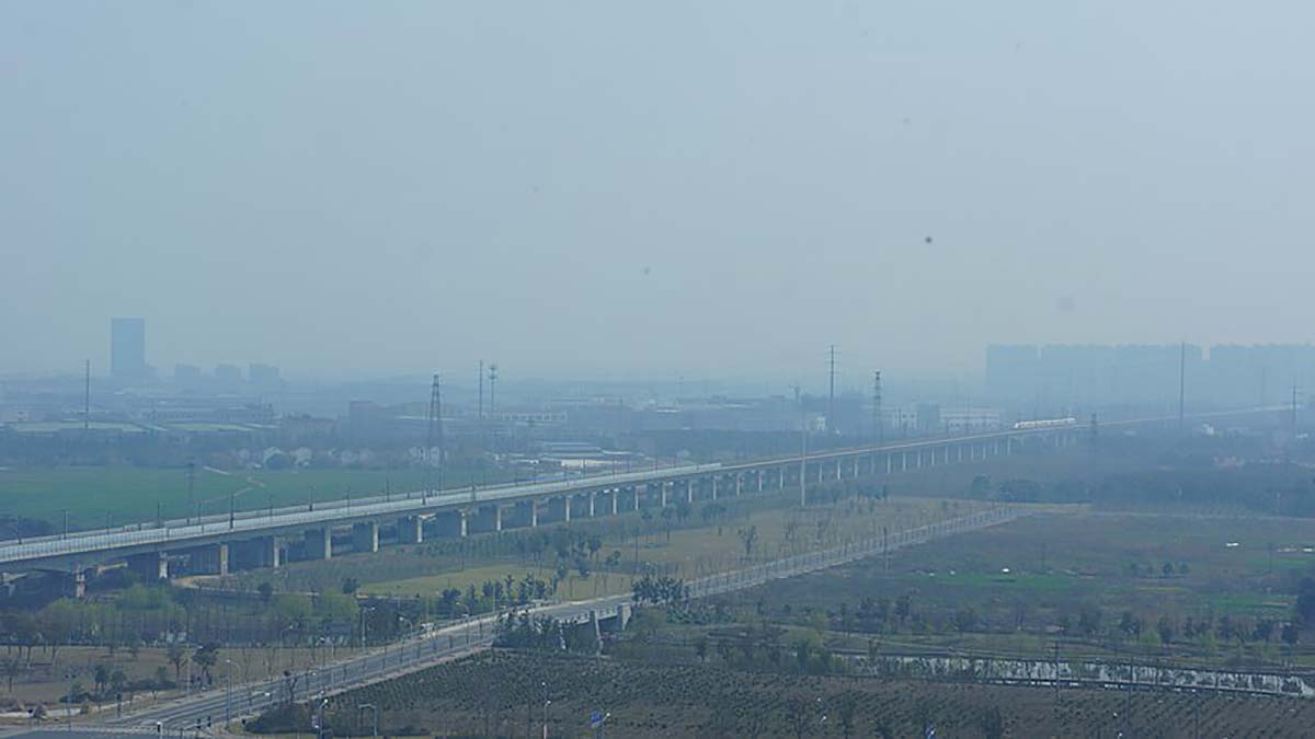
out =
<path fill-rule="evenodd" d="M 1308 341 L 1310 3 L 0 3 L 0 373 Z M 927 243 L 927 238 L 931 243 Z"/>

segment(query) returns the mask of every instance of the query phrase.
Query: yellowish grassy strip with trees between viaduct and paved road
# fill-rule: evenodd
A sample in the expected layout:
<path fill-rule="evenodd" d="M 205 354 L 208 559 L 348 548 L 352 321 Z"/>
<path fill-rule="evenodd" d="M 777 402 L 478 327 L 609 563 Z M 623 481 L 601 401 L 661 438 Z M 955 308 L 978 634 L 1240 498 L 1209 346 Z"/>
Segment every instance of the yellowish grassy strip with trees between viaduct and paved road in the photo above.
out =
<path fill-rule="evenodd" d="M 788 508 L 792 502 L 793 498 L 786 496 L 727 502 L 729 508 L 736 508 L 715 523 L 702 519 L 697 510 L 706 504 L 697 502 L 685 523 L 671 522 L 669 536 L 664 529 L 667 522 L 659 515 L 647 522 L 638 513 L 573 522 L 567 526 L 569 530 L 600 536 L 600 556 L 586 577 L 573 567 L 568 568 L 556 597 L 572 600 L 625 592 L 636 571 L 636 560 L 640 572 L 659 571 L 689 580 L 751 561 L 877 536 L 882 527 L 899 531 L 968 515 L 989 505 L 932 498 L 860 498 L 800 512 Z M 746 558 L 740 531 L 750 529 L 755 531 L 755 542 L 750 558 Z M 546 554 L 535 561 L 514 554 L 508 542 L 533 533 L 551 535 L 552 530 L 552 526 L 543 526 L 533 531 L 518 529 L 481 534 L 467 539 L 460 552 L 451 550 L 452 540 L 434 540 L 427 546 L 385 547 L 376 554 L 293 563 L 277 571 L 230 576 L 225 586 L 254 590 L 267 581 L 277 590 L 323 590 L 337 588 L 343 579 L 351 577 L 368 594 L 431 597 L 448 588 L 464 590 L 472 584 L 502 580 L 508 575 L 521 577 L 534 572 L 539 577 L 550 577 L 556 564 L 555 555 Z M 608 556 L 614 556 L 614 564 L 604 563 Z"/>

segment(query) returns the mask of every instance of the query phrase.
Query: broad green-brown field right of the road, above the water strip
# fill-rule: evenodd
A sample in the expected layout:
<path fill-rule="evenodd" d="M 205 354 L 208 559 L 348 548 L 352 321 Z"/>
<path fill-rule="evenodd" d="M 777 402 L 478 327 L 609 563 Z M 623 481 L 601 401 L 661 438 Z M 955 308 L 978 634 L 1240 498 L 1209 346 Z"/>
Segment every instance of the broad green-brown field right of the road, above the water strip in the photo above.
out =
<path fill-rule="evenodd" d="M 1312 544 L 1303 519 L 1043 514 L 717 602 L 857 651 L 1315 665 L 1281 639 Z"/>

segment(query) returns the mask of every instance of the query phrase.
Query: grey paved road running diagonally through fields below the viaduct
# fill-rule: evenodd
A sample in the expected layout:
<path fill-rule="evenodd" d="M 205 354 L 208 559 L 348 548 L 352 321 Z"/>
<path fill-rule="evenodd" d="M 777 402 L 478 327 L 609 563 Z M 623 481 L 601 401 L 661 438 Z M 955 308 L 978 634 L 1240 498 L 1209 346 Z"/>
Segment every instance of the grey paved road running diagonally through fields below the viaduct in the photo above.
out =
<path fill-rule="evenodd" d="M 1026 514 L 1027 512 L 1022 509 L 998 508 L 943 523 L 897 531 L 885 542 L 880 538 L 863 539 L 831 550 L 806 552 L 692 581 L 689 596 L 698 598 L 752 588 L 769 580 L 815 572 L 865 556 L 880 555 L 886 550 L 896 551 L 932 539 L 1003 523 Z M 886 550 L 884 550 L 884 544 Z M 597 611 L 600 617 L 609 615 L 615 613 L 617 606 L 630 601 L 630 593 L 625 593 L 530 610 L 564 621 L 584 621 L 588 619 L 589 611 Z M 287 679 L 264 680 L 234 685 L 231 690 L 220 688 L 178 698 L 118 719 L 105 721 L 104 727 L 118 731 L 154 731 L 155 723 L 159 722 L 166 734 L 185 732 L 195 730 L 199 725 L 201 728 L 212 725 L 217 727 L 224 723 L 226 717 L 238 719 L 255 715 L 280 700 L 285 700 L 289 686 L 297 701 L 310 701 L 320 696 L 393 679 L 446 659 L 487 648 L 493 640 L 496 619 L 497 617 L 488 615 L 451 625 L 430 635 L 413 638 L 366 655 L 351 656 L 314 671 L 300 672 L 295 676 L 295 681 Z"/>

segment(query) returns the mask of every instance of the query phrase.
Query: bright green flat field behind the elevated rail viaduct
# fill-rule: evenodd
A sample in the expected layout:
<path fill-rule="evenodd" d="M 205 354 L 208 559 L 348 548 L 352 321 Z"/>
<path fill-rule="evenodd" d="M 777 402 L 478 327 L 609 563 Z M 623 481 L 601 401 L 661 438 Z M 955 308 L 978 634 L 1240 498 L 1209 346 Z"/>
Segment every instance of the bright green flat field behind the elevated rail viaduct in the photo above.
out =
<path fill-rule="evenodd" d="M 450 469 L 451 484 L 469 477 L 469 469 Z M 488 472 L 488 481 L 505 473 Z M 342 500 L 387 489 L 422 487 L 419 469 L 237 469 L 226 473 L 197 469 L 195 501 L 203 515 L 227 513 L 230 493 L 238 510 L 296 505 L 308 500 Z M 68 512 L 72 529 L 96 529 L 155 521 L 159 504 L 164 518 L 193 515 L 187 493 L 187 469 L 141 467 L 62 467 L 55 469 L 0 469 L 0 510 L 63 526 Z"/>

